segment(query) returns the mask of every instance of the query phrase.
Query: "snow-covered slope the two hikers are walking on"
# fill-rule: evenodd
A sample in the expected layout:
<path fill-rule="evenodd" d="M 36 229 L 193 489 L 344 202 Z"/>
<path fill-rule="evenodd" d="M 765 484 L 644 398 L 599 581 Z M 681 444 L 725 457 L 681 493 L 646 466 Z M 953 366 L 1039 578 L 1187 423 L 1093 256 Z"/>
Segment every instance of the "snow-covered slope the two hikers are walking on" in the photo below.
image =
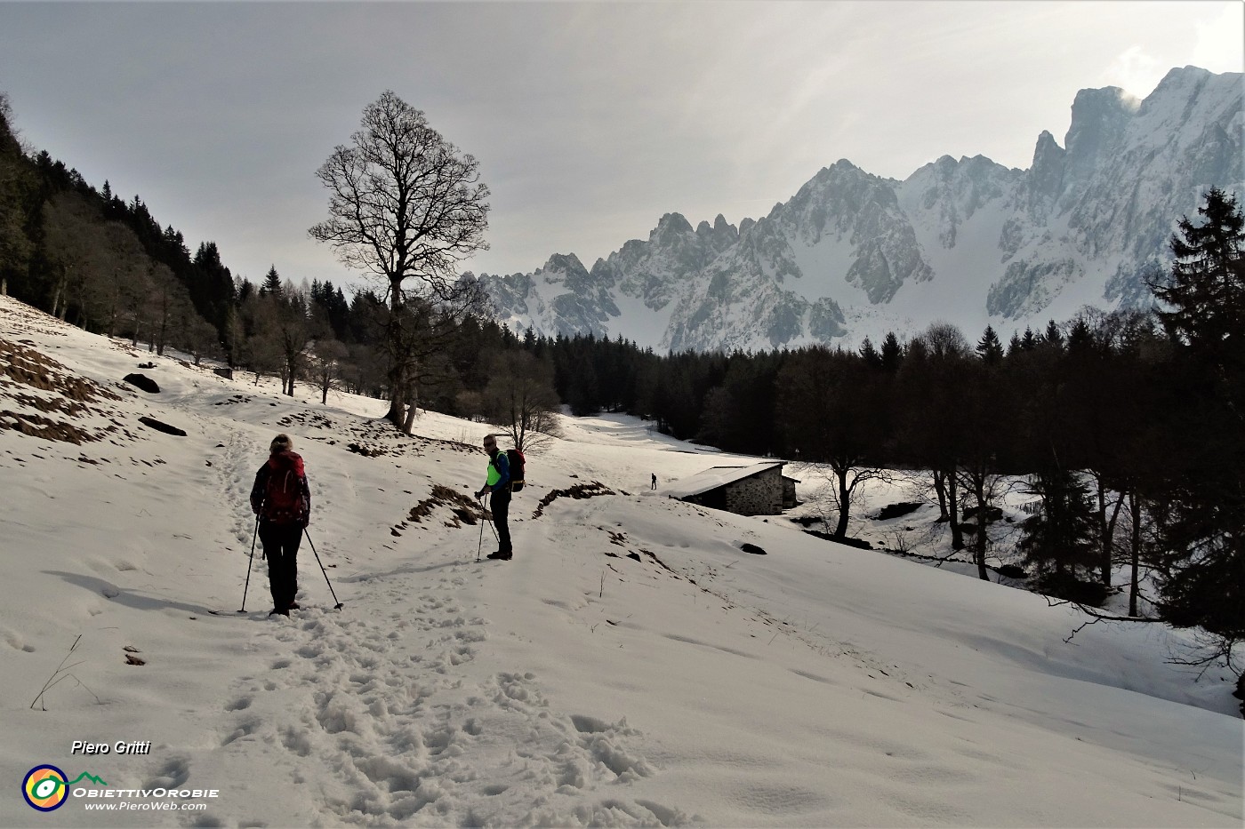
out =
<path fill-rule="evenodd" d="M 515 558 L 477 561 L 484 427 L 274 392 L 0 297 L 0 825 L 1241 823 L 1245 731 L 1183 634 L 1066 641 L 1040 596 L 672 500 L 650 474 L 722 456 L 625 418 L 530 452 Z M 293 617 L 258 555 L 247 584 L 278 431 L 341 611 L 308 546 Z M 107 785 L 37 814 L 41 764 Z M 122 803 L 208 808 L 87 809 Z"/>

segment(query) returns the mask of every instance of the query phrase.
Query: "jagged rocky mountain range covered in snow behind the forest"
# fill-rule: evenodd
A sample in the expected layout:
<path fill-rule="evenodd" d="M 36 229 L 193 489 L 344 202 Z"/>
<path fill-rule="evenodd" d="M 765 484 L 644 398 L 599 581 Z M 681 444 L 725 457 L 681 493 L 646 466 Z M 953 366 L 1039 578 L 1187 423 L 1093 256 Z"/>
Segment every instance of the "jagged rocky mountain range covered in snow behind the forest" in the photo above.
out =
<path fill-rule="evenodd" d="M 1149 302 L 1177 219 L 1211 185 L 1245 189 L 1243 98 L 1245 76 L 1194 66 L 1143 101 L 1082 90 L 1063 146 L 1043 132 L 1028 169 L 944 156 L 899 182 L 844 159 L 738 228 L 670 213 L 591 269 L 558 254 L 479 279 L 514 330 L 662 350 L 850 345 L 934 320 L 1006 337 Z"/>

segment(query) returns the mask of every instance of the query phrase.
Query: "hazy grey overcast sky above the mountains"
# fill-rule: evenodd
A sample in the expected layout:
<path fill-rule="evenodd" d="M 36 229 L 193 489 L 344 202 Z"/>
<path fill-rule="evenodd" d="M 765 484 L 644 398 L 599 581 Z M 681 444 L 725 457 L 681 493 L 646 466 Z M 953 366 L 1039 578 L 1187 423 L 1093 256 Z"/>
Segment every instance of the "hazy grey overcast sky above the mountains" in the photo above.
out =
<path fill-rule="evenodd" d="M 392 88 L 481 162 L 492 249 L 591 266 L 657 219 L 737 224 L 847 158 L 1027 168 L 1077 90 L 1243 71 L 1240 0 L 4 2 L 0 92 L 30 148 L 138 194 L 253 281 L 356 281 L 308 237 L 315 169 Z"/>

